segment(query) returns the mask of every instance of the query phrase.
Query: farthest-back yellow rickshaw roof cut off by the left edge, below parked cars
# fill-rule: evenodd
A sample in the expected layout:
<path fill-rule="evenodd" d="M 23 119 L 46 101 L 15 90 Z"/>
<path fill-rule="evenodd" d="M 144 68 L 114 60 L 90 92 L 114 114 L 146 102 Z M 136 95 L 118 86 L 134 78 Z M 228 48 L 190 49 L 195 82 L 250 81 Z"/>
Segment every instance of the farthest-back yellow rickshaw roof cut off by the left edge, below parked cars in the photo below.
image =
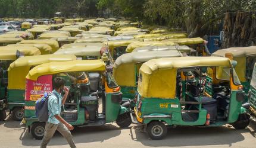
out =
<path fill-rule="evenodd" d="M 10 32 L 0 35 L 0 38 L 17 38 L 17 37 L 21 37 L 24 40 L 33 40 L 34 39 L 33 34 L 26 32 L 26 31 L 10 31 Z"/>

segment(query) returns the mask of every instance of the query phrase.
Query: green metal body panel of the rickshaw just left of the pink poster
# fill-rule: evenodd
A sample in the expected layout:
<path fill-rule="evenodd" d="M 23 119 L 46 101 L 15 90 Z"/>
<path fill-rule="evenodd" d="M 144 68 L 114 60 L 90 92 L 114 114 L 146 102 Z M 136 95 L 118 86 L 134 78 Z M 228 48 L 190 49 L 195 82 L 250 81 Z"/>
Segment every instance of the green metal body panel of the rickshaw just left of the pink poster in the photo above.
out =
<path fill-rule="evenodd" d="M 23 89 L 8 89 L 7 91 L 8 109 L 13 110 L 13 108 L 15 107 L 23 107 L 24 96 L 25 96 L 25 90 Z M 23 103 L 23 104 L 20 104 L 20 103 Z"/>

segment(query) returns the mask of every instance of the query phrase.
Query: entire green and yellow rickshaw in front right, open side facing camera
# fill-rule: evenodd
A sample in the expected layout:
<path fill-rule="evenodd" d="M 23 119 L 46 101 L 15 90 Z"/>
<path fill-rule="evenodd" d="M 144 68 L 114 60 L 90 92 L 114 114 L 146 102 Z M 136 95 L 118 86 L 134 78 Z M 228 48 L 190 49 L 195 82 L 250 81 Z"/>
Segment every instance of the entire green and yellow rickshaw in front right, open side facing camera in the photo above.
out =
<path fill-rule="evenodd" d="M 145 125 L 154 140 L 166 136 L 167 126 L 247 127 L 250 116 L 242 107 L 245 92 L 235 64 L 226 57 L 171 57 L 143 63 L 134 108 L 138 122 L 133 122 Z M 208 68 L 207 77 L 213 78 L 205 85 L 204 67 Z M 220 69 L 230 72 L 229 79 L 218 75 Z M 215 86 L 215 81 L 221 85 Z M 207 87 L 216 91 L 207 94 Z"/>

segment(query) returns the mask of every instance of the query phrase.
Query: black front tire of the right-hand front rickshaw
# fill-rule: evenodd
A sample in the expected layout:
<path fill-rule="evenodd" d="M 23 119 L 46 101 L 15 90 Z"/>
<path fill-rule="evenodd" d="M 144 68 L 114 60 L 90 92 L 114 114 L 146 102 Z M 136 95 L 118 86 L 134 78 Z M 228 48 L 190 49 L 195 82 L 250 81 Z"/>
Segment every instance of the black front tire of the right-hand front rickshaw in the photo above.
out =
<path fill-rule="evenodd" d="M 244 129 L 250 123 L 250 115 L 249 114 L 239 114 L 238 120 L 231 125 L 236 129 Z"/>

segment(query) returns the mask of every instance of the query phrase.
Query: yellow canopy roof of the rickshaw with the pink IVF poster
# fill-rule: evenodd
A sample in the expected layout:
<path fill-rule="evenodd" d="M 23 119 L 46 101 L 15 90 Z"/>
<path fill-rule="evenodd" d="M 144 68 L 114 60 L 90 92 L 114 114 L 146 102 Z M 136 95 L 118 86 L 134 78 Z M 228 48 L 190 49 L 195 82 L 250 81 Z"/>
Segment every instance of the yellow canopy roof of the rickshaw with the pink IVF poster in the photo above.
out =
<path fill-rule="evenodd" d="M 74 60 L 70 62 L 51 62 L 34 67 L 26 78 L 36 81 L 39 76 L 53 75 L 62 72 L 104 71 L 102 60 Z"/>

